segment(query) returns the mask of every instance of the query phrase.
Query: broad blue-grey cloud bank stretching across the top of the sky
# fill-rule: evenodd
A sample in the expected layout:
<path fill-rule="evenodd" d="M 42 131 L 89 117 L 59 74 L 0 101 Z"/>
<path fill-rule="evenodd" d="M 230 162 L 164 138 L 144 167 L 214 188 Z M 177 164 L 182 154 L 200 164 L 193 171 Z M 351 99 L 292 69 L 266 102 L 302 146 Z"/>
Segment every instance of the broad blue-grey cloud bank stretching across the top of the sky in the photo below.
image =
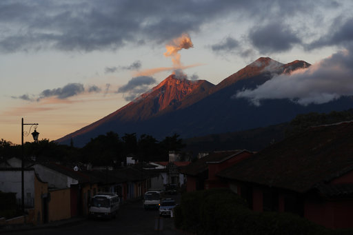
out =
<path fill-rule="evenodd" d="M 53 48 L 91 52 L 117 50 L 128 43 L 164 44 L 183 32 L 198 32 L 205 24 L 229 16 L 239 20 L 251 17 L 252 21 L 281 21 L 298 14 L 312 14 L 314 8 L 332 6 L 338 7 L 339 3 L 328 6 L 324 0 L 0 1 L 0 52 Z"/>

